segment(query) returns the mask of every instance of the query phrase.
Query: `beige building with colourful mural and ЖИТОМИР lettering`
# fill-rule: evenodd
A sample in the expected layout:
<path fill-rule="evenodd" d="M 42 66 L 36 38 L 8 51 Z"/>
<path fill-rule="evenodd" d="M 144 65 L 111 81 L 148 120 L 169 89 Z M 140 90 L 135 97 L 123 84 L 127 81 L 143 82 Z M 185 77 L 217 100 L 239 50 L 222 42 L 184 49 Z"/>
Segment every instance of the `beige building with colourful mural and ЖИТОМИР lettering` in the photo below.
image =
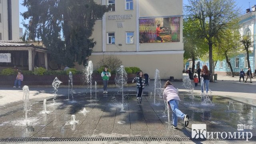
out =
<path fill-rule="evenodd" d="M 162 79 L 182 79 L 182 0 L 95 1 L 109 12 L 94 26 L 97 44 L 89 58 L 94 66 L 115 54 L 125 67 L 139 67 L 150 78 L 158 69 Z"/>

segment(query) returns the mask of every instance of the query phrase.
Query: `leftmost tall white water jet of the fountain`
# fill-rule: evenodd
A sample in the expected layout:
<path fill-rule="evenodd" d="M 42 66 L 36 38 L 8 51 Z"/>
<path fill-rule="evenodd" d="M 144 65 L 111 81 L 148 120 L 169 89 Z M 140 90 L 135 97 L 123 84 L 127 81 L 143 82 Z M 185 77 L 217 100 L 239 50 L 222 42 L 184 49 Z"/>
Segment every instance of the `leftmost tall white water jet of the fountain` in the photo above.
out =
<path fill-rule="evenodd" d="M 29 89 L 28 86 L 23 86 L 23 98 L 24 101 L 24 110 L 25 110 L 25 123 L 28 123 L 28 111 L 30 110 L 30 102 L 29 102 Z"/>

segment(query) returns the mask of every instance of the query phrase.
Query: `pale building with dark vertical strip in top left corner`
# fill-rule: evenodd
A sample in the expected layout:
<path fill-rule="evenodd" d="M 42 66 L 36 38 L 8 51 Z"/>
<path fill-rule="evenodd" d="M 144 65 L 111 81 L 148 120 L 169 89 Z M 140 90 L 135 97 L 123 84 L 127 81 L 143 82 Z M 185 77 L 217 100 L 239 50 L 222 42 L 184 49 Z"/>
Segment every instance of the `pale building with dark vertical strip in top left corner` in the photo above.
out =
<path fill-rule="evenodd" d="M 0 0 L 0 40 L 19 40 L 19 0 Z"/>

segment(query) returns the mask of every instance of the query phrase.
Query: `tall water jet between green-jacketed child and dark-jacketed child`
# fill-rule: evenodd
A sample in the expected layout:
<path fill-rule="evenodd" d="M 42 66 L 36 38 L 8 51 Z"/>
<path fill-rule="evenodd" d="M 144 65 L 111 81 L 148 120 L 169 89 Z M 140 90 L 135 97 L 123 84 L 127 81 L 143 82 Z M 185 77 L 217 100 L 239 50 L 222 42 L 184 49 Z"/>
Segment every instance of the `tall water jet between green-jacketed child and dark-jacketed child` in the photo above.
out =
<path fill-rule="evenodd" d="M 118 88 L 120 89 L 120 92 L 122 93 L 122 105 L 121 105 L 120 112 L 125 112 L 124 111 L 124 85 L 127 84 L 127 73 L 124 70 L 124 66 L 120 66 L 120 68 L 116 70 L 115 81 L 116 81 L 116 86 L 118 86 Z"/>

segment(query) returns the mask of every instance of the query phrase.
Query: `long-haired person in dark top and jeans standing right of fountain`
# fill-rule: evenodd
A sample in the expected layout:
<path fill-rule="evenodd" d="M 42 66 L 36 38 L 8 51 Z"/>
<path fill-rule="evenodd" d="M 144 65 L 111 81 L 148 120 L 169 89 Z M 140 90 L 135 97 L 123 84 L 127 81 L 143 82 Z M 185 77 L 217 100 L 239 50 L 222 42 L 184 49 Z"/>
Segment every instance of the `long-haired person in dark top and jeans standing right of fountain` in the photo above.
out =
<path fill-rule="evenodd" d="M 208 67 L 206 64 L 203 65 L 203 68 L 201 70 L 201 77 L 202 77 L 202 84 L 201 84 L 201 96 L 204 96 L 204 84 L 206 85 L 206 95 L 208 95 L 209 90 L 209 82 L 211 79 L 210 71 L 208 70 Z"/>

